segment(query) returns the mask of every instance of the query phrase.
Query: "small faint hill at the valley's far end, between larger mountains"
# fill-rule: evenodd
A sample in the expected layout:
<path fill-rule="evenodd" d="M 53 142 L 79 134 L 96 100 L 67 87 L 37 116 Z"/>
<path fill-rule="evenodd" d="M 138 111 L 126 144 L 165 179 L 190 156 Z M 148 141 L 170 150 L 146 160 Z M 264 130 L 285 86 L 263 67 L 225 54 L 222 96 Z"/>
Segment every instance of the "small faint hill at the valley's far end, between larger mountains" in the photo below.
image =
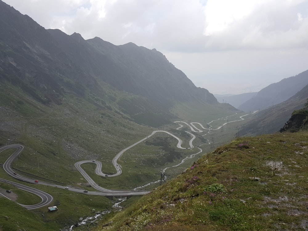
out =
<path fill-rule="evenodd" d="M 232 95 L 232 94 L 226 94 L 226 95 L 218 95 L 214 94 L 217 101 L 219 103 L 229 103 L 233 107 L 238 108 L 242 103 L 245 103 L 248 99 L 251 99 L 253 96 L 257 95 L 257 92 L 248 92 L 243 93 L 239 95 Z"/>

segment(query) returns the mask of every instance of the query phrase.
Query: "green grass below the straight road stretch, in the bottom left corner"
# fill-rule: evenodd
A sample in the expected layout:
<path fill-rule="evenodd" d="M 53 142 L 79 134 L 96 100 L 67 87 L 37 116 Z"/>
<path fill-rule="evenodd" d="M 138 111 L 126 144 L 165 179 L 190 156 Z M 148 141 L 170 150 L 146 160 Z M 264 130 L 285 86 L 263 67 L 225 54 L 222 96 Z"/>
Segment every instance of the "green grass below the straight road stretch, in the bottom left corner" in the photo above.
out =
<path fill-rule="evenodd" d="M 103 211 L 106 209 L 110 209 L 112 205 L 111 201 L 107 199 L 107 197 L 94 196 L 94 195 L 90 196 L 87 194 L 73 193 L 66 189 L 48 187 L 43 185 L 34 185 L 26 183 L 24 184 L 34 188 L 39 188 L 40 190 L 50 193 L 53 196 L 54 200 L 52 201 L 51 204 L 35 210 L 26 210 L 22 208 L 20 205 L 17 205 L 15 202 L 10 201 L 10 203 L 14 204 L 14 206 L 10 207 L 9 210 L 11 210 L 11 214 L 8 216 L 12 220 L 24 221 L 25 226 L 23 227 L 27 227 L 26 225 L 29 225 L 28 220 L 30 218 L 25 218 L 25 217 L 32 217 L 35 214 L 37 214 L 38 216 L 36 219 L 38 220 L 37 221 L 38 223 L 44 221 L 47 224 L 46 227 L 48 227 L 49 224 L 52 224 L 51 227 L 57 227 L 57 229 L 60 228 L 62 229 L 63 227 L 67 227 L 74 224 L 76 221 L 78 221 L 79 217 L 87 217 L 93 215 L 92 209 L 95 209 L 95 211 Z M 76 187 L 77 186 L 78 185 L 76 185 Z M 11 186 L 10 184 L 1 183 L 0 188 L 10 189 L 11 193 L 14 193 L 18 196 L 16 202 L 21 204 L 33 205 L 41 201 L 41 199 L 38 198 L 36 195 L 17 189 L 14 186 Z M 2 197 L 0 197 L 0 200 L 9 201 L 8 199 Z M 6 205 L 6 203 L 1 204 L 1 206 L 2 205 Z M 49 213 L 47 207 L 53 205 L 57 206 L 58 210 L 56 212 Z M 0 212 L 0 216 L 1 215 L 6 216 L 5 214 L 8 214 L 7 210 L 8 209 L 4 210 L 2 209 L 2 211 Z M 22 210 L 24 213 L 22 218 L 18 217 L 19 212 L 18 213 L 16 212 L 20 210 Z M 57 222 L 55 223 L 55 221 Z M 33 221 L 30 220 L 29 222 Z M 19 229 L 10 229 L 11 226 L 8 226 L 6 223 L 1 225 L 3 230 L 19 230 Z M 29 228 L 26 230 L 55 230 L 55 228 L 53 229 Z"/>

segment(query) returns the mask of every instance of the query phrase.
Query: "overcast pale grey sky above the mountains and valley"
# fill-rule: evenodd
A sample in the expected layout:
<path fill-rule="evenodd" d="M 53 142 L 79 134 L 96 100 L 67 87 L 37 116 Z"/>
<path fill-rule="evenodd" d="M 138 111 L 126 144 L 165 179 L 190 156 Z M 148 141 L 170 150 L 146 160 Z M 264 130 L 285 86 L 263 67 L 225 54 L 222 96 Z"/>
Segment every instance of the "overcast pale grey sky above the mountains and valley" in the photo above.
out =
<path fill-rule="evenodd" d="M 46 29 L 156 48 L 213 94 L 308 69 L 308 0 L 4 0 Z"/>

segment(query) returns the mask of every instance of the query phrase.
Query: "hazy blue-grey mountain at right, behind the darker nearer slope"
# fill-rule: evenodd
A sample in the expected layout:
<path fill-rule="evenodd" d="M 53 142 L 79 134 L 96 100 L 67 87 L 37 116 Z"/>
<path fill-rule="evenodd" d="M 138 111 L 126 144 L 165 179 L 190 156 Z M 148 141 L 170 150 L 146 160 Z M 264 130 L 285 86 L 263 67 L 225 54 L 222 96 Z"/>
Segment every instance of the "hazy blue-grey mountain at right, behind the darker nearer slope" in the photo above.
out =
<path fill-rule="evenodd" d="M 282 79 L 263 88 L 256 96 L 241 104 L 238 109 L 242 111 L 263 110 L 281 103 L 300 91 L 308 84 L 308 70 L 298 75 Z"/>

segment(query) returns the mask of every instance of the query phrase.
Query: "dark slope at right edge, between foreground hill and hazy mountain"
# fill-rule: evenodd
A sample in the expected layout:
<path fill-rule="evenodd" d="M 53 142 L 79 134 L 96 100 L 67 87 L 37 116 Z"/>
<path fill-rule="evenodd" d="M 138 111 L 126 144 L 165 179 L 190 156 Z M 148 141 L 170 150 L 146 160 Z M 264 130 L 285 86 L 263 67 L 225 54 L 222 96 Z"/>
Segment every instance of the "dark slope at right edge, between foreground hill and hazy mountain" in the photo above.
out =
<path fill-rule="evenodd" d="M 308 85 L 290 99 L 258 112 L 252 120 L 241 128 L 240 134 L 255 136 L 278 132 L 289 120 L 292 112 L 304 106 L 307 98 Z"/>

